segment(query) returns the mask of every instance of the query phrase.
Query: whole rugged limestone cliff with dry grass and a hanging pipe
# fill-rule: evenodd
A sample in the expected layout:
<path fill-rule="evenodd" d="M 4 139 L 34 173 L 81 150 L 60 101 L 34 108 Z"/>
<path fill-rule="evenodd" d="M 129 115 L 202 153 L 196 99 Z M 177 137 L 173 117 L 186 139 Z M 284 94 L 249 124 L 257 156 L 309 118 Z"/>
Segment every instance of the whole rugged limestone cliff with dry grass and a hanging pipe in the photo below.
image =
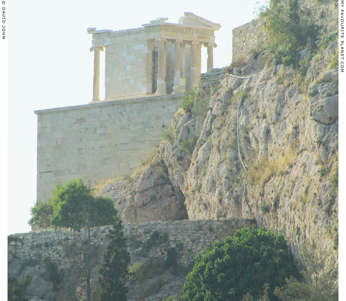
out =
<path fill-rule="evenodd" d="M 334 265 L 336 52 L 337 41 L 302 50 L 300 68 L 268 64 L 266 53 L 234 63 L 211 94 L 189 94 L 151 158 L 97 194 L 114 199 L 124 222 L 252 217 L 298 257 L 316 241 Z"/>

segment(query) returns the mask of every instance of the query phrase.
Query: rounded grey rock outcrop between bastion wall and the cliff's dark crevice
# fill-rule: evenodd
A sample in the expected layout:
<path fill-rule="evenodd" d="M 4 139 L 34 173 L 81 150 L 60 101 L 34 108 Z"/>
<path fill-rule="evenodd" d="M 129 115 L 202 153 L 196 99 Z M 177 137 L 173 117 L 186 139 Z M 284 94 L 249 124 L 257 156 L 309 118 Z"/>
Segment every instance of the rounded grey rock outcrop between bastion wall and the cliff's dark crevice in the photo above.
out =
<path fill-rule="evenodd" d="M 175 192 L 162 161 L 143 168 L 137 177 L 104 185 L 98 195 L 115 201 L 122 220 L 140 223 L 187 218 L 184 201 Z"/>

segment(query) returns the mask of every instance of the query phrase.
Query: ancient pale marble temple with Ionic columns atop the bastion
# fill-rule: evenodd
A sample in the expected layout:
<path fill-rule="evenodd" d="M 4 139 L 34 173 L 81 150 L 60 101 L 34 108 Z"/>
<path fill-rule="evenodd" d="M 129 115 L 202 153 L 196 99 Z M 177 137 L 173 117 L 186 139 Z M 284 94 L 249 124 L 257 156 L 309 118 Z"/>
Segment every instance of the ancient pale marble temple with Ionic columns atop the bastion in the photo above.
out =
<path fill-rule="evenodd" d="M 192 13 L 184 13 L 179 24 L 167 20 L 120 31 L 88 28 L 94 52 L 92 103 L 100 101 L 100 51 L 105 51 L 105 101 L 184 93 L 199 82 L 202 46 L 207 69 L 213 68 L 214 31 L 220 24 Z"/>

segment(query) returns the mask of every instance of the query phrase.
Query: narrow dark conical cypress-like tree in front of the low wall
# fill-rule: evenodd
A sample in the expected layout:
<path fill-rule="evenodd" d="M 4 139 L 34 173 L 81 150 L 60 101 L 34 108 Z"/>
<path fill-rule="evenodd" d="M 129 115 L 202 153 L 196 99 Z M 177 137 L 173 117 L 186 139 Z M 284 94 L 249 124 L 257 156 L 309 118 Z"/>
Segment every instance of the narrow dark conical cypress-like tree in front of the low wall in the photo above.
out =
<path fill-rule="evenodd" d="M 128 274 L 130 257 L 122 229 L 121 221 L 117 220 L 107 235 L 109 243 L 99 271 L 100 301 L 126 300 L 125 278 Z"/>

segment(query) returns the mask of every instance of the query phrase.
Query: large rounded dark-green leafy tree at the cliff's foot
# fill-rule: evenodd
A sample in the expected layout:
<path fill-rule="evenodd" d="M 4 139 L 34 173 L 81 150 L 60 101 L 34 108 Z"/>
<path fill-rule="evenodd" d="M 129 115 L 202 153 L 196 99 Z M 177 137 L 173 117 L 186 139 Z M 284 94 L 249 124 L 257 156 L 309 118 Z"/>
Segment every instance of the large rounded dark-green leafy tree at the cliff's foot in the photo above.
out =
<path fill-rule="evenodd" d="M 246 295 L 255 300 L 298 272 L 290 261 L 286 239 L 263 227 L 244 228 L 197 256 L 183 287 L 183 301 L 234 301 Z M 267 298 L 267 296 L 265 296 Z"/>

